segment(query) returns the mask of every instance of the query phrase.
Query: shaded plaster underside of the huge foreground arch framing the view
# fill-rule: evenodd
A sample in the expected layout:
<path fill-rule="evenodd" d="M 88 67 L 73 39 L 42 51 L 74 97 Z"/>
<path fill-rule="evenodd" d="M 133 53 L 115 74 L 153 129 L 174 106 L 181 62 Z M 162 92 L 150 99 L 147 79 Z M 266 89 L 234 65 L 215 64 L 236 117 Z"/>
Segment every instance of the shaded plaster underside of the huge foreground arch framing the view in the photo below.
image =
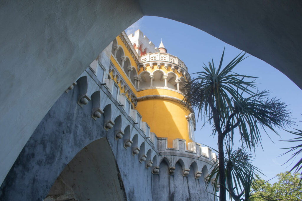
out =
<path fill-rule="evenodd" d="M 266 61 L 302 88 L 301 4 L 261 0 L 2 2 L 0 183 L 61 93 L 143 15 L 204 30 Z"/>

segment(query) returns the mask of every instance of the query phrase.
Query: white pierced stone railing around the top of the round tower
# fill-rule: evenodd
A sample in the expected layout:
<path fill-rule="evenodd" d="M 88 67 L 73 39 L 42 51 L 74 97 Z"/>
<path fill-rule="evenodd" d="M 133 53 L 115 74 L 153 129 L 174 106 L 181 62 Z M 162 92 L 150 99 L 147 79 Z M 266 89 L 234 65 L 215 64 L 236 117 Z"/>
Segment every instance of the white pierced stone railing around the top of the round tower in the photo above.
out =
<path fill-rule="evenodd" d="M 155 52 L 155 53 L 148 53 L 146 55 L 140 56 L 140 63 L 152 62 L 152 61 L 170 62 L 185 69 L 185 71 L 188 72 L 188 68 L 182 60 L 168 53 Z"/>

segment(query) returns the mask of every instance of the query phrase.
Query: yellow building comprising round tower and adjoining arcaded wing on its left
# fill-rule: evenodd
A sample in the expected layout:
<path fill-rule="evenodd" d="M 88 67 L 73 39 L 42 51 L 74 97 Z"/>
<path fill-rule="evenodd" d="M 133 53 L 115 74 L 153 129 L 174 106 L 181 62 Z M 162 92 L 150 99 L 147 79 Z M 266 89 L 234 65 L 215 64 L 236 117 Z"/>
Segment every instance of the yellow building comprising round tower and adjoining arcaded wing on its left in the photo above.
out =
<path fill-rule="evenodd" d="M 166 137 L 170 148 L 177 138 L 194 141 L 194 111 L 182 104 L 182 86 L 190 78 L 182 60 L 167 53 L 162 42 L 156 48 L 137 30 L 128 37 L 123 32 L 113 41 L 111 63 L 126 83 L 122 84 L 112 72 L 110 78 L 120 91 L 128 90 L 129 102 L 132 100 L 132 107 L 151 132 Z"/>

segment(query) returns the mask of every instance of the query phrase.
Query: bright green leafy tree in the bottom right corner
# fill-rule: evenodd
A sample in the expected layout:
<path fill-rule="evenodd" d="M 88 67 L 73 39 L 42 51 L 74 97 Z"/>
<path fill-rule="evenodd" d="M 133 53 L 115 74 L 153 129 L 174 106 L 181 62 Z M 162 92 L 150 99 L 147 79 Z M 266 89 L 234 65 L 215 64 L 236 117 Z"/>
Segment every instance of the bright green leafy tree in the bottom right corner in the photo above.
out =
<path fill-rule="evenodd" d="M 278 182 L 271 185 L 269 182 L 258 178 L 253 181 L 256 190 L 252 193 L 251 201 L 262 200 L 302 200 L 302 184 L 298 173 L 284 172 L 277 174 Z"/>

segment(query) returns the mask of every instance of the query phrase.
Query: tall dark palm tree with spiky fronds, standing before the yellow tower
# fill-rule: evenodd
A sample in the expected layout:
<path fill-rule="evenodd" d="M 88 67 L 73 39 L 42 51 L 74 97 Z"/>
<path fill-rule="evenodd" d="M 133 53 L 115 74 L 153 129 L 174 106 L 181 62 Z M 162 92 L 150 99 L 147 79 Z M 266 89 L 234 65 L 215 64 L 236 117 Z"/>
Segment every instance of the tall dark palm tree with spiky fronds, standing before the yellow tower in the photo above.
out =
<path fill-rule="evenodd" d="M 184 86 L 185 104 L 198 110 L 198 118 L 203 112 L 201 117 L 212 125 L 213 134 L 218 135 L 219 161 L 225 160 L 224 144 L 233 145 L 235 130 L 240 135 L 242 145 L 251 151 L 261 145 L 260 128 L 269 128 L 277 133 L 274 127 L 293 123 L 285 103 L 269 98 L 268 91 L 259 92 L 254 81 L 246 81 L 246 78 L 256 77 L 232 72 L 245 59 L 245 54 L 240 53 L 222 68 L 223 49 L 218 68 L 212 59 L 208 66 L 204 64 L 204 71 L 196 73 L 197 77 Z M 221 164 L 218 171 L 219 197 L 220 200 L 226 200 L 225 166 Z"/>

